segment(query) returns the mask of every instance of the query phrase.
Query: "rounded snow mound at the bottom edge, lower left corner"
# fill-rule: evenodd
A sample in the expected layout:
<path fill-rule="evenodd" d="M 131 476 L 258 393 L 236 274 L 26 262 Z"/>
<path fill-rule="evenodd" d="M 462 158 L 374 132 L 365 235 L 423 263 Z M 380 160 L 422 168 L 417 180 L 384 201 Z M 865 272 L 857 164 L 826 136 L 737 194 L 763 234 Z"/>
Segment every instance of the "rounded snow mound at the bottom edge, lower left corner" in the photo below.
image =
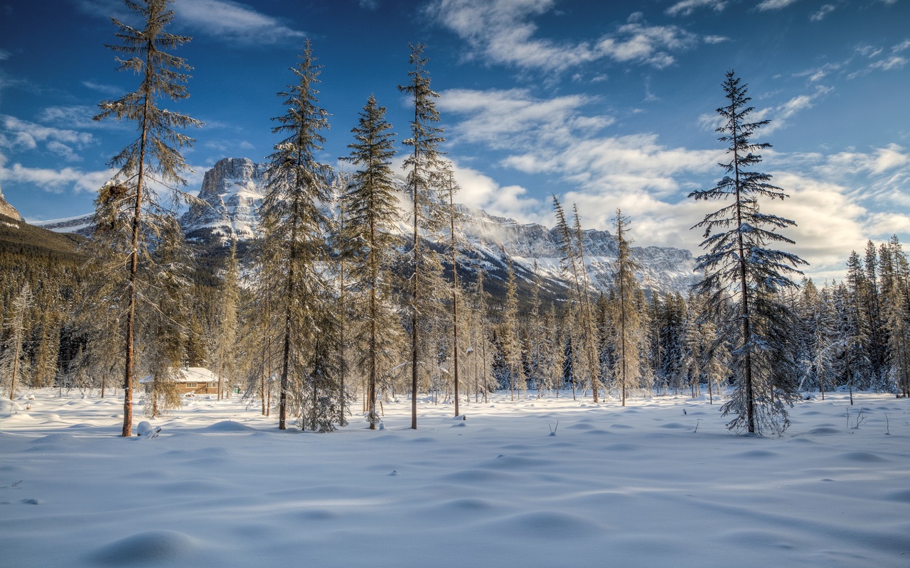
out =
<path fill-rule="evenodd" d="M 197 540 L 177 531 L 137 533 L 101 547 L 93 555 L 106 566 L 187 562 L 199 552 Z"/>

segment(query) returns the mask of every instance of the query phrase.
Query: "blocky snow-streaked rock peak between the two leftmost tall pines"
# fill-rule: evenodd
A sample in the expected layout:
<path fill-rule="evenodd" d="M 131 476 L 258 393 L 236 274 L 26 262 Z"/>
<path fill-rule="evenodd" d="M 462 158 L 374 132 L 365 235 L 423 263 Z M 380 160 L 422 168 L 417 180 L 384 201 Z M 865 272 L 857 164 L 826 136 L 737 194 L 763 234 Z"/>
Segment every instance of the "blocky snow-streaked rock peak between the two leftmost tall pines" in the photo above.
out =
<path fill-rule="evenodd" d="M 266 164 L 248 158 L 218 161 L 203 177 L 198 197 L 204 203 L 191 206 L 181 220 L 187 236 L 254 238 L 266 181 Z"/>

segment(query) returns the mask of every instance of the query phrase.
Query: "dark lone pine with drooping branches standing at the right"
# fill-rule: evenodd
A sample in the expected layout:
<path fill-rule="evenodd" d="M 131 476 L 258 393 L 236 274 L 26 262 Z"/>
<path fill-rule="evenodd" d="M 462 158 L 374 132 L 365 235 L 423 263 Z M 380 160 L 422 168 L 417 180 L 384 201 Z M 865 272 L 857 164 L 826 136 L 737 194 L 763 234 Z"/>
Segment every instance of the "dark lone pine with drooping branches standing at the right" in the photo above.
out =
<path fill-rule="evenodd" d="M 723 405 L 723 414 L 736 414 L 731 429 L 760 433 L 763 428 L 782 432 L 789 421 L 785 406 L 793 404 L 796 393 L 787 382 L 788 347 L 782 334 L 792 314 L 777 294 L 794 286 L 788 274 L 801 274 L 795 266 L 806 264 L 795 254 L 768 248 L 769 243 L 793 244 L 777 232 L 795 223 L 759 211 L 759 198 L 784 199 L 783 190 L 770 184 L 771 175 L 750 171 L 762 160 L 759 150 L 770 144 L 753 144 L 751 138 L 769 121 L 746 122 L 754 108 L 747 106 L 747 86 L 733 71 L 726 74 L 723 91 L 728 105 L 717 109 L 723 125 L 717 132 L 728 144 L 730 161 L 720 164 L 727 174 L 713 188 L 689 194 L 696 201 L 731 199 L 731 203 L 705 216 L 694 225 L 704 229 L 706 254 L 697 260 L 696 270 L 704 279 L 696 292 L 709 294 L 706 308 L 719 314 L 724 297 L 730 294 L 735 306 L 733 325 L 722 335 L 734 338 L 733 364 L 737 384 L 732 398 Z M 694 227 L 693 227 L 694 228 Z"/>

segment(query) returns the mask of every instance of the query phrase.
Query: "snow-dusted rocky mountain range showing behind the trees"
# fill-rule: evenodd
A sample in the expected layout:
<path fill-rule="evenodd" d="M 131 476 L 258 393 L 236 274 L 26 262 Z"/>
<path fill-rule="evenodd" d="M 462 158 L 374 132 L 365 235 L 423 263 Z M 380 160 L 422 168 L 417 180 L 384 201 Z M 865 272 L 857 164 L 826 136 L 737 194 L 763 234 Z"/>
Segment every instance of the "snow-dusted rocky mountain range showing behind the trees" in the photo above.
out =
<path fill-rule="evenodd" d="M 257 210 L 265 194 L 266 164 L 255 164 L 248 158 L 224 158 L 208 170 L 198 197 L 181 218 L 187 238 L 207 251 L 223 249 L 232 237 L 241 243 L 258 236 Z M 331 180 L 332 193 L 338 196 L 344 185 L 343 174 Z M 403 185 L 402 185 L 402 189 Z M 521 288 L 527 290 L 533 280 L 534 261 L 544 280 L 544 295 L 558 297 L 565 284 L 561 280 L 559 235 L 556 229 L 542 224 L 520 224 L 470 207 L 460 206 L 463 221 L 462 238 L 470 244 L 471 264 L 481 264 L 490 272 L 491 291 L 501 287 L 505 278 L 507 257 L 515 266 Z M 67 220 L 45 221 L 41 226 L 61 232 L 85 230 L 91 215 Z M 80 230 L 80 232 L 81 232 Z M 407 240 L 406 224 L 399 229 Z M 582 235 L 585 263 L 591 285 L 602 292 L 610 290 L 616 262 L 616 237 L 609 231 L 587 230 Z M 440 244 L 435 245 L 441 249 Z M 646 291 L 685 293 L 697 280 L 695 261 L 687 250 L 671 247 L 632 247 L 642 265 L 638 277 Z M 472 271 L 465 276 L 473 280 Z"/>

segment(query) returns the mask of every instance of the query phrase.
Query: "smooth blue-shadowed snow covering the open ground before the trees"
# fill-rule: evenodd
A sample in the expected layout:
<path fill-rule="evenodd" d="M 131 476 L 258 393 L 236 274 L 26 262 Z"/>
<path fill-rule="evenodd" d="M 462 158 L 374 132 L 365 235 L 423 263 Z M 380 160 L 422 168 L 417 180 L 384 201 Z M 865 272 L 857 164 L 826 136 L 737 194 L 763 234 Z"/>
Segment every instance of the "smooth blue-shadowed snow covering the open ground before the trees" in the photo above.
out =
<path fill-rule="evenodd" d="M 154 439 L 118 437 L 119 398 L 29 394 L 0 404 L 8 566 L 910 565 L 889 394 L 804 401 L 779 438 L 684 396 L 423 401 L 417 431 L 401 397 L 317 434 L 213 395 Z"/>

